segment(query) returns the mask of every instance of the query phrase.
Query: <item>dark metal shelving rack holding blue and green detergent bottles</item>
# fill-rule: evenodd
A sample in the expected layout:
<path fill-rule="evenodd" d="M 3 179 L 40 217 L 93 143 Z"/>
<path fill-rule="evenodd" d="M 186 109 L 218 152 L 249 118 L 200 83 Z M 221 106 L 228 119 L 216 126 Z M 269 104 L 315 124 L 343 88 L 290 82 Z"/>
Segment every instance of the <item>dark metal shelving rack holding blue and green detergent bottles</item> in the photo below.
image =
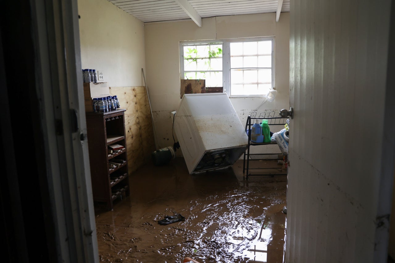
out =
<path fill-rule="evenodd" d="M 246 121 L 246 126 L 245 126 L 245 130 L 246 132 L 248 130 L 251 131 L 251 127 L 254 124 L 256 119 L 266 119 L 267 123 L 269 124 L 269 126 L 284 126 L 286 124 L 286 121 L 288 118 L 283 118 L 283 117 L 262 117 L 259 116 L 257 117 L 251 117 L 251 115 L 248 115 L 247 117 L 247 121 Z M 251 124 L 252 123 L 252 124 Z M 282 171 L 282 167 L 279 167 L 278 165 L 276 167 L 260 167 L 260 168 L 250 168 L 250 161 L 270 161 L 270 160 L 281 160 L 278 158 L 259 158 L 259 157 L 263 157 L 263 156 L 269 156 L 269 155 L 282 155 L 280 149 L 278 148 L 279 153 L 258 153 L 258 154 L 251 154 L 250 153 L 250 146 L 267 146 L 267 145 L 277 145 L 277 143 L 254 143 L 251 141 L 251 132 L 248 132 L 248 147 L 246 152 L 244 152 L 244 161 L 243 161 L 243 173 L 246 172 L 246 179 L 248 180 L 249 176 L 262 176 L 262 175 L 269 175 L 269 176 L 274 176 L 274 175 L 287 175 L 287 172 L 283 172 Z M 254 156 L 258 156 L 258 158 L 253 158 Z M 276 169 L 279 171 L 279 173 L 271 173 L 271 172 L 267 172 L 267 173 L 250 173 L 250 170 L 273 170 Z M 288 171 L 288 167 L 287 167 L 287 171 Z"/>

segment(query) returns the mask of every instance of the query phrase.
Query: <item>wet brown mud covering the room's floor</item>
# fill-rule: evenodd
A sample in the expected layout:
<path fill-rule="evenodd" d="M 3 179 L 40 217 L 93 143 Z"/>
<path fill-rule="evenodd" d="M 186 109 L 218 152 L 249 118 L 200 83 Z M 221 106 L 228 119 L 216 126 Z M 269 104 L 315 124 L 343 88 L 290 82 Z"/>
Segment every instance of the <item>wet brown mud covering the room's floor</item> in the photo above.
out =
<path fill-rule="evenodd" d="M 130 175 L 130 196 L 116 200 L 112 211 L 95 204 L 100 260 L 281 263 L 286 184 L 285 175 L 245 180 L 243 160 L 199 175 L 189 175 L 182 158 L 148 163 Z M 158 224 L 175 213 L 185 221 Z"/>

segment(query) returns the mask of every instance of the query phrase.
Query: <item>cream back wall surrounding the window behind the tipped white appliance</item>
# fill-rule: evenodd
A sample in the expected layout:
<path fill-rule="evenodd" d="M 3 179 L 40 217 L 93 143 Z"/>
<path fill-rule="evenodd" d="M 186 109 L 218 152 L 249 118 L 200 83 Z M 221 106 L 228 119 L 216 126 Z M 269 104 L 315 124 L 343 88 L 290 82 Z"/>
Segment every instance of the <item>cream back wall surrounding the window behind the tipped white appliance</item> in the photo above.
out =
<path fill-rule="evenodd" d="M 205 18 L 201 28 L 188 20 L 145 23 L 144 29 L 147 86 L 160 148 L 173 145 L 170 112 L 177 110 L 181 101 L 179 41 L 275 36 L 278 93 L 275 101 L 265 103 L 259 112 L 289 108 L 288 12 L 281 13 L 277 23 L 275 13 L 265 13 Z M 232 98 L 231 102 L 244 126 L 248 114 L 262 99 Z"/>

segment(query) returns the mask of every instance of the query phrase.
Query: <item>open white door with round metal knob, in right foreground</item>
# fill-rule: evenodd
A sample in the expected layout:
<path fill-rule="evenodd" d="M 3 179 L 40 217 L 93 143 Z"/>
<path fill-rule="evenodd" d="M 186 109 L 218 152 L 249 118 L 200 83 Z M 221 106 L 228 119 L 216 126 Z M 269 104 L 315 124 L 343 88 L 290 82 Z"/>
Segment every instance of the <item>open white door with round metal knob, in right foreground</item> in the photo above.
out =
<path fill-rule="evenodd" d="M 391 1 L 290 5 L 286 262 L 386 262 Z"/>

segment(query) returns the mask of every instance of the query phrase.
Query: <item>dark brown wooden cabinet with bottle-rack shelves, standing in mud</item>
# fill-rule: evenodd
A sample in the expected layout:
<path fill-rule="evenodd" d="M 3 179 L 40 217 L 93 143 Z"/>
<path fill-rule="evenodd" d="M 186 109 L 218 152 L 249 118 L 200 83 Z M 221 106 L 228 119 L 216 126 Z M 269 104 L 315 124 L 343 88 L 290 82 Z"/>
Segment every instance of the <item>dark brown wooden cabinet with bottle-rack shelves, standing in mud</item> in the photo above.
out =
<path fill-rule="evenodd" d="M 130 191 L 125 111 L 86 113 L 93 201 L 105 203 L 109 210 L 116 199 L 128 196 Z M 114 144 L 123 148 L 111 153 L 108 146 Z"/>

